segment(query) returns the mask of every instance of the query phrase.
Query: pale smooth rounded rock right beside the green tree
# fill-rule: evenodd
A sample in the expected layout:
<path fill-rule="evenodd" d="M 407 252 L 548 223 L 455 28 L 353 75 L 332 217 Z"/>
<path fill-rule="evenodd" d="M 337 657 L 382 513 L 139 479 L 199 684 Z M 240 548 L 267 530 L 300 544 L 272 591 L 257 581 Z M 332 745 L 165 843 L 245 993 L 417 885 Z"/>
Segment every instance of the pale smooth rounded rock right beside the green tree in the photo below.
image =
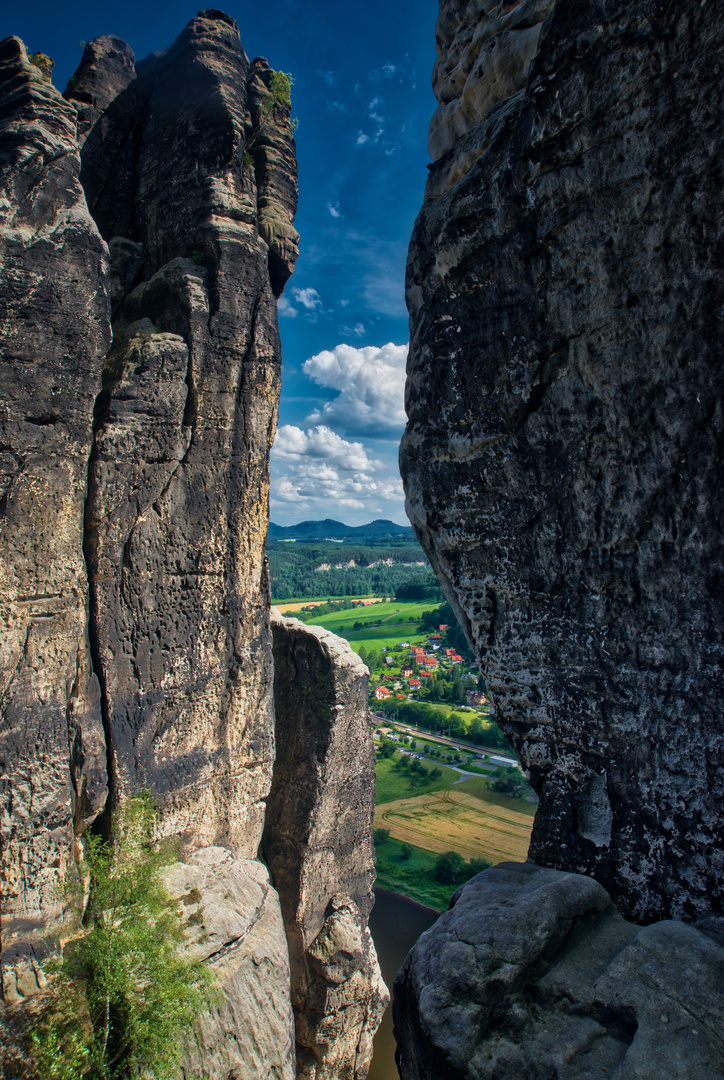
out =
<path fill-rule="evenodd" d="M 209 964 L 220 991 L 199 1018 L 182 1076 L 294 1080 L 289 951 L 266 867 L 204 848 L 164 879 L 187 916 L 190 955 Z"/>

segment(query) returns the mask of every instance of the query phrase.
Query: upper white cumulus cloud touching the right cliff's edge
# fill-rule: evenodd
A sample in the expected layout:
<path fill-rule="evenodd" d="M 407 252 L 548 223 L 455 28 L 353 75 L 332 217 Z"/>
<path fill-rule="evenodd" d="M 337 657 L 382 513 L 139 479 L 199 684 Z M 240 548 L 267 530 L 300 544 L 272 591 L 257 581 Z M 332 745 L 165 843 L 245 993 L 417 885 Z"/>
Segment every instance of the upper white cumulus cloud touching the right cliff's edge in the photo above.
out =
<path fill-rule="evenodd" d="M 406 345 L 338 345 L 303 365 L 305 375 L 338 395 L 313 411 L 310 423 L 329 423 L 356 433 L 399 434 L 405 423 Z"/>

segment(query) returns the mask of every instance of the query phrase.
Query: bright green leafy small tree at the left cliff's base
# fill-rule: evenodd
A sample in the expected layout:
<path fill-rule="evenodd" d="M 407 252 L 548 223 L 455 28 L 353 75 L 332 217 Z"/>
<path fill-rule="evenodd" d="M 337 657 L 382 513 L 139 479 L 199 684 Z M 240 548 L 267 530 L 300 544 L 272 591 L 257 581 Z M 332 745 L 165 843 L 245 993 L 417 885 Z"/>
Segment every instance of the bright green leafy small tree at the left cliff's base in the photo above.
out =
<path fill-rule="evenodd" d="M 30 1032 L 28 1078 L 170 1077 L 182 1035 L 214 998 L 209 970 L 180 949 L 182 915 L 160 876 L 174 854 L 153 849 L 152 822 L 149 798 L 135 798 L 116 815 L 112 845 L 88 839 L 90 902 Z"/>

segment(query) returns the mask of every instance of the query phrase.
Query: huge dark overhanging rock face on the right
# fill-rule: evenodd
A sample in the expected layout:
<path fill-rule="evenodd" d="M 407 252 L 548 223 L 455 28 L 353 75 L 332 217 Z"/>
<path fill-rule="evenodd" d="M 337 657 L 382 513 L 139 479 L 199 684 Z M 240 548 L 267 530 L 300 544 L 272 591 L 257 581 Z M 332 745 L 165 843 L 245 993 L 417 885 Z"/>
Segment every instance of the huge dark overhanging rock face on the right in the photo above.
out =
<path fill-rule="evenodd" d="M 724 907 L 724 17 L 549 8 L 441 5 L 407 512 L 540 796 L 531 859 L 691 919 Z"/>

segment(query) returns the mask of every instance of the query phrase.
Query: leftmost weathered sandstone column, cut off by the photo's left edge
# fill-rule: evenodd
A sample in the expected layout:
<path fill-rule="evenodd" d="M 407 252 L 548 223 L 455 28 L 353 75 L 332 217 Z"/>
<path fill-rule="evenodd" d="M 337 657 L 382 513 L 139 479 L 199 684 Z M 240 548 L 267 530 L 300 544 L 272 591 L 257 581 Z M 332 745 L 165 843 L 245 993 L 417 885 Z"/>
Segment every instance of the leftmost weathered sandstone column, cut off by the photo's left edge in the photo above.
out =
<path fill-rule="evenodd" d="M 88 646 L 83 501 L 108 348 L 108 259 L 73 108 L 0 43 L 0 974 L 37 989 L 75 836 L 106 799 Z"/>

